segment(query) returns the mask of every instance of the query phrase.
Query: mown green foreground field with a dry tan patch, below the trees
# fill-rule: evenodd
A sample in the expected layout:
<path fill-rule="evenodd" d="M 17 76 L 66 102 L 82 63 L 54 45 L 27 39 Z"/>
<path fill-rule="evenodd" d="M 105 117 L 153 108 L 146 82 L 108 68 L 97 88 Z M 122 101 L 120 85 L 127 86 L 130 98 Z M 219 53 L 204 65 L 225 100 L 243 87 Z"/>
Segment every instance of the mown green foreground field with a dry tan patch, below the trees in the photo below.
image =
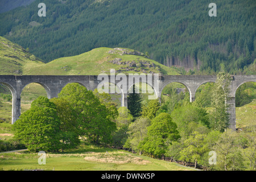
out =
<path fill-rule="evenodd" d="M 106 152 L 108 151 L 108 153 Z M 39 164 L 37 153 L 26 151 L 0 154 L 0 169 L 47 171 L 187 171 L 195 170 L 164 160 L 139 156 L 123 150 L 82 144 L 76 150 L 46 154 L 46 164 Z"/>

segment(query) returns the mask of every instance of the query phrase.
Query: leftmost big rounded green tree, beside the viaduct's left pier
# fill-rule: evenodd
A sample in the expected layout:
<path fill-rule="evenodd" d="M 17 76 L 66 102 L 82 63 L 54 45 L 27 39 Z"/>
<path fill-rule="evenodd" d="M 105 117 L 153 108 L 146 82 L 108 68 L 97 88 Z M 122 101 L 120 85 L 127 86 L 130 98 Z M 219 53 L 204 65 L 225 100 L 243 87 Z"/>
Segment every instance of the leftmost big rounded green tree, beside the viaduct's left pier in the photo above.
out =
<path fill-rule="evenodd" d="M 31 108 L 13 125 L 15 138 L 29 151 L 57 151 L 60 143 L 60 120 L 56 106 L 46 97 L 38 97 Z"/>

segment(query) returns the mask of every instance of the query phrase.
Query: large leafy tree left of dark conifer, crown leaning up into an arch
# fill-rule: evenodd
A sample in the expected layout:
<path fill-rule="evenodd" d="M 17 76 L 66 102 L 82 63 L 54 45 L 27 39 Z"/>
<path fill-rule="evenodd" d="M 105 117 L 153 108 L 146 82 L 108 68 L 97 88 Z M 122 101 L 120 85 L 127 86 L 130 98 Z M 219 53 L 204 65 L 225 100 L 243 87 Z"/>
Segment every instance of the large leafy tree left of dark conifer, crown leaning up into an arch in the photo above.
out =
<path fill-rule="evenodd" d="M 112 133 L 116 130 L 115 123 L 111 121 L 113 113 L 91 90 L 72 83 L 61 90 L 59 98 L 67 100 L 75 110 L 80 136 L 85 135 L 95 143 L 112 142 Z"/>

